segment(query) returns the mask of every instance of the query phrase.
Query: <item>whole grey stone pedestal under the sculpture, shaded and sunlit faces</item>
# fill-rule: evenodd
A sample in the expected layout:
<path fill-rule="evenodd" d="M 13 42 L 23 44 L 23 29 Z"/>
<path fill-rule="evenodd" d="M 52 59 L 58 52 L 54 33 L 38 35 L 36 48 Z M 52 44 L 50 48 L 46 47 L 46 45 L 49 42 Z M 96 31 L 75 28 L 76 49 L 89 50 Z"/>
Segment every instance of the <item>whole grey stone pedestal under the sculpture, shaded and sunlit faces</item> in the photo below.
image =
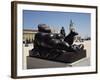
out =
<path fill-rule="evenodd" d="M 62 62 L 55 62 L 55 61 L 27 56 L 27 69 L 74 67 L 74 66 L 78 66 L 78 67 L 90 66 L 90 58 L 82 58 L 73 63 L 62 63 Z"/>

